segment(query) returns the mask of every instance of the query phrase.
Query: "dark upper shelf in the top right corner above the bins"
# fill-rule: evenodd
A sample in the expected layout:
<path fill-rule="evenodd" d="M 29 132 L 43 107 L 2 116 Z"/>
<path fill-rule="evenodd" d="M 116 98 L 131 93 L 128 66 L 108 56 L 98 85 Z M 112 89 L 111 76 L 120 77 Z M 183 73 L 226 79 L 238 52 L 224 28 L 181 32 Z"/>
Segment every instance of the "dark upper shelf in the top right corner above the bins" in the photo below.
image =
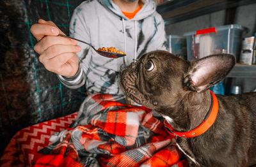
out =
<path fill-rule="evenodd" d="M 256 0 L 170 0 L 157 6 L 157 12 L 162 15 L 166 25 L 206 15 L 215 11 L 227 10 L 256 3 Z"/>

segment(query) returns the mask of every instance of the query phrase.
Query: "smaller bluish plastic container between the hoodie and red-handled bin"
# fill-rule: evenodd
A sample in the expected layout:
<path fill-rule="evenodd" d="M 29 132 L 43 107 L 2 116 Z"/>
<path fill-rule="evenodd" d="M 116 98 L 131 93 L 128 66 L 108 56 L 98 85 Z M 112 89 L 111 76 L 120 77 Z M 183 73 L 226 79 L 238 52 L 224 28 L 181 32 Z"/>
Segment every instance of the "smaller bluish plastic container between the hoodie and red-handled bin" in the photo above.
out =
<path fill-rule="evenodd" d="M 170 53 L 187 59 L 187 43 L 185 36 L 169 35 L 167 38 L 168 50 Z"/>

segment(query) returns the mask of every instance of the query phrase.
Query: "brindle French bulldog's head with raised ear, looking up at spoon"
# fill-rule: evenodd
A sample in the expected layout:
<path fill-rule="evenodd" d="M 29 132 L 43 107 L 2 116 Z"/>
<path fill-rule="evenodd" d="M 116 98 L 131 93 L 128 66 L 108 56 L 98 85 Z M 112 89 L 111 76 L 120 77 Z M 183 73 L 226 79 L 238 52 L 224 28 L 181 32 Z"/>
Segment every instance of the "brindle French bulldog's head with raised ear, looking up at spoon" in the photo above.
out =
<path fill-rule="evenodd" d="M 204 92 L 220 82 L 234 67 L 234 55 L 218 54 L 186 61 L 156 50 L 120 72 L 120 86 L 136 103 L 156 110 L 174 105 L 189 92 Z"/>

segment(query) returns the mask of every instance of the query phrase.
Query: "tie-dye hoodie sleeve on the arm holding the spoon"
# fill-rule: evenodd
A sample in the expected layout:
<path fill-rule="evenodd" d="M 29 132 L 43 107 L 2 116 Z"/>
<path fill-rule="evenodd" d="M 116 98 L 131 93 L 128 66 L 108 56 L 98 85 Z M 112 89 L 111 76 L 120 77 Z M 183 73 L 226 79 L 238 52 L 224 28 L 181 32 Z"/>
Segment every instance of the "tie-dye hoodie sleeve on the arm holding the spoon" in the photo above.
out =
<path fill-rule="evenodd" d="M 86 20 L 84 15 L 84 8 L 78 6 L 72 15 L 69 25 L 70 36 L 79 40 L 90 42 L 90 36 L 86 27 Z M 77 42 L 81 46 L 81 52 L 77 52 L 80 59 L 79 69 L 74 76 L 61 76 L 58 75 L 61 83 L 68 88 L 77 89 L 84 85 L 86 81 L 86 73 L 88 71 L 88 64 L 90 63 L 90 55 L 88 54 L 90 47 L 83 43 Z"/>

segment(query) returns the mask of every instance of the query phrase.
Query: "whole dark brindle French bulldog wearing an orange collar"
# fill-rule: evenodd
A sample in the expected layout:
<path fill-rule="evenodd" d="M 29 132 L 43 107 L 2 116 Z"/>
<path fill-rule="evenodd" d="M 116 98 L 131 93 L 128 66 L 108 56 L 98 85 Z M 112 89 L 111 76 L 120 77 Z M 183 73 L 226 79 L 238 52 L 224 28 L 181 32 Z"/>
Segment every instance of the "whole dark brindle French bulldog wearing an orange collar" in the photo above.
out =
<path fill-rule="evenodd" d="M 235 64 L 230 54 L 186 61 L 156 50 L 120 71 L 120 87 L 136 103 L 163 115 L 189 166 L 252 166 L 256 92 L 221 96 L 209 90 Z"/>

